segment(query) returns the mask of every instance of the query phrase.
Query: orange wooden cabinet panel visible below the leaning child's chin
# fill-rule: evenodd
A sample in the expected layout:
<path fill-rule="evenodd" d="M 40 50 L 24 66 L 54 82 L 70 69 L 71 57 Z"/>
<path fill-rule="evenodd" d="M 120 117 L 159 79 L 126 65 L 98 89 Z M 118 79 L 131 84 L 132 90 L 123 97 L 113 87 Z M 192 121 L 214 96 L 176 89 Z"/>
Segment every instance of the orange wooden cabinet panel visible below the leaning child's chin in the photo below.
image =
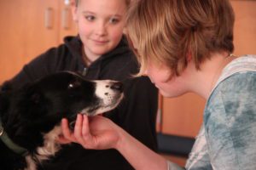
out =
<path fill-rule="evenodd" d="M 162 133 L 195 137 L 201 127 L 204 105 L 205 99 L 192 93 L 163 98 Z"/>

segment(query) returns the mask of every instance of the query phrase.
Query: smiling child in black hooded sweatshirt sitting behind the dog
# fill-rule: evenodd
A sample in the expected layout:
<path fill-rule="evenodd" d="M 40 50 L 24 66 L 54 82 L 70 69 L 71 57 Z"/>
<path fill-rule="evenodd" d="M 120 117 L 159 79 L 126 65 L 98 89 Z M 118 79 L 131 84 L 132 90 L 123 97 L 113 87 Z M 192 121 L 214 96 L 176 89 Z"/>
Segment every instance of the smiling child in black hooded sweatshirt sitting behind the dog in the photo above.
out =
<path fill-rule="evenodd" d="M 12 80 L 18 88 L 56 71 L 83 72 L 87 79 L 124 82 L 125 99 L 106 116 L 132 136 L 156 149 L 155 117 L 157 89 L 147 77 L 131 78 L 137 61 L 127 46 L 123 29 L 130 0 L 79 0 L 73 3 L 73 20 L 78 37 L 66 37 L 64 44 L 50 48 Z M 86 94 L 84 94 L 86 95 Z M 143 122 L 143 123 L 141 123 Z M 133 169 L 116 150 L 84 150 L 79 144 L 63 146 L 44 169 Z"/>

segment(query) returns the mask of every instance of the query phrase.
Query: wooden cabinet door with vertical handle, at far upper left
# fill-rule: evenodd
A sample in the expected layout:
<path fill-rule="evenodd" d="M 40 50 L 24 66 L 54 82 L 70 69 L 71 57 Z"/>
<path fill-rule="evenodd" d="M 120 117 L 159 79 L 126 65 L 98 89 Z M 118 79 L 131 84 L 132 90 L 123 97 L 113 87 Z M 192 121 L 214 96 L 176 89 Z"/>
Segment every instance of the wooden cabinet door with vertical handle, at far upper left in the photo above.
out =
<path fill-rule="evenodd" d="M 55 0 L 0 1 L 0 82 L 58 44 L 58 2 Z"/>

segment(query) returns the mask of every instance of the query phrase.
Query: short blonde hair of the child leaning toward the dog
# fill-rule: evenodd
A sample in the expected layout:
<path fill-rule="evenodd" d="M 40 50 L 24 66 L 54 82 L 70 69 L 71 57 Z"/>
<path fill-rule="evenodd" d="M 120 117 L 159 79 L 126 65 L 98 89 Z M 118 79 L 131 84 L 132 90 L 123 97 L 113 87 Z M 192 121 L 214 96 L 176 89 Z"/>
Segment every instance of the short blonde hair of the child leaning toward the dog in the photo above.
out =
<path fill-rule="evenodd" d="M 167 65 L 179 76 L 188 55 L 199 70 L 209 54 L 232 53 L 234 20 L 228 0 L 133 0 L 126 31 L 137 48 L 138 75 L 148 60 Z"/>

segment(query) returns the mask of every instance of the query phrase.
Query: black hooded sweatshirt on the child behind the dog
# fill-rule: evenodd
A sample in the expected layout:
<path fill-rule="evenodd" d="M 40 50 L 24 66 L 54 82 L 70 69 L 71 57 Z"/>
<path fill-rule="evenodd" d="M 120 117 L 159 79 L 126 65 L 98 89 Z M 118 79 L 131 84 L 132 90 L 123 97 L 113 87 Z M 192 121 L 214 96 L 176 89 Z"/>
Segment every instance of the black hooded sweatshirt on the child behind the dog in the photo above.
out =
<path fill-rule="evenodd" d="M 125 99 L 117 109 L 105 116 L 124 128 L 132 136 L 156 150 L 155 119 L 157 112 L 157 89 L 148 77 L 132 77 L 138 65 L 128 47 L 125 37 L 108 54 L 103 54 L 89 67 L 82 59 L 83 44 L 78 37 L 65 37 L 64 43 L 50 48 L 44 54 L 25 65 L 11 82 L 15 88 L 33 82 L 57 71 L 83 72 L 89 80 L 112 79 L 122 81 Z M 137 159 L 140 159 L 139 157 Z M 128 170 L 133 169 L 117 150 L 86 150 L 79 144 L 67 144 L 41 169 L 50 170 Z"/>

